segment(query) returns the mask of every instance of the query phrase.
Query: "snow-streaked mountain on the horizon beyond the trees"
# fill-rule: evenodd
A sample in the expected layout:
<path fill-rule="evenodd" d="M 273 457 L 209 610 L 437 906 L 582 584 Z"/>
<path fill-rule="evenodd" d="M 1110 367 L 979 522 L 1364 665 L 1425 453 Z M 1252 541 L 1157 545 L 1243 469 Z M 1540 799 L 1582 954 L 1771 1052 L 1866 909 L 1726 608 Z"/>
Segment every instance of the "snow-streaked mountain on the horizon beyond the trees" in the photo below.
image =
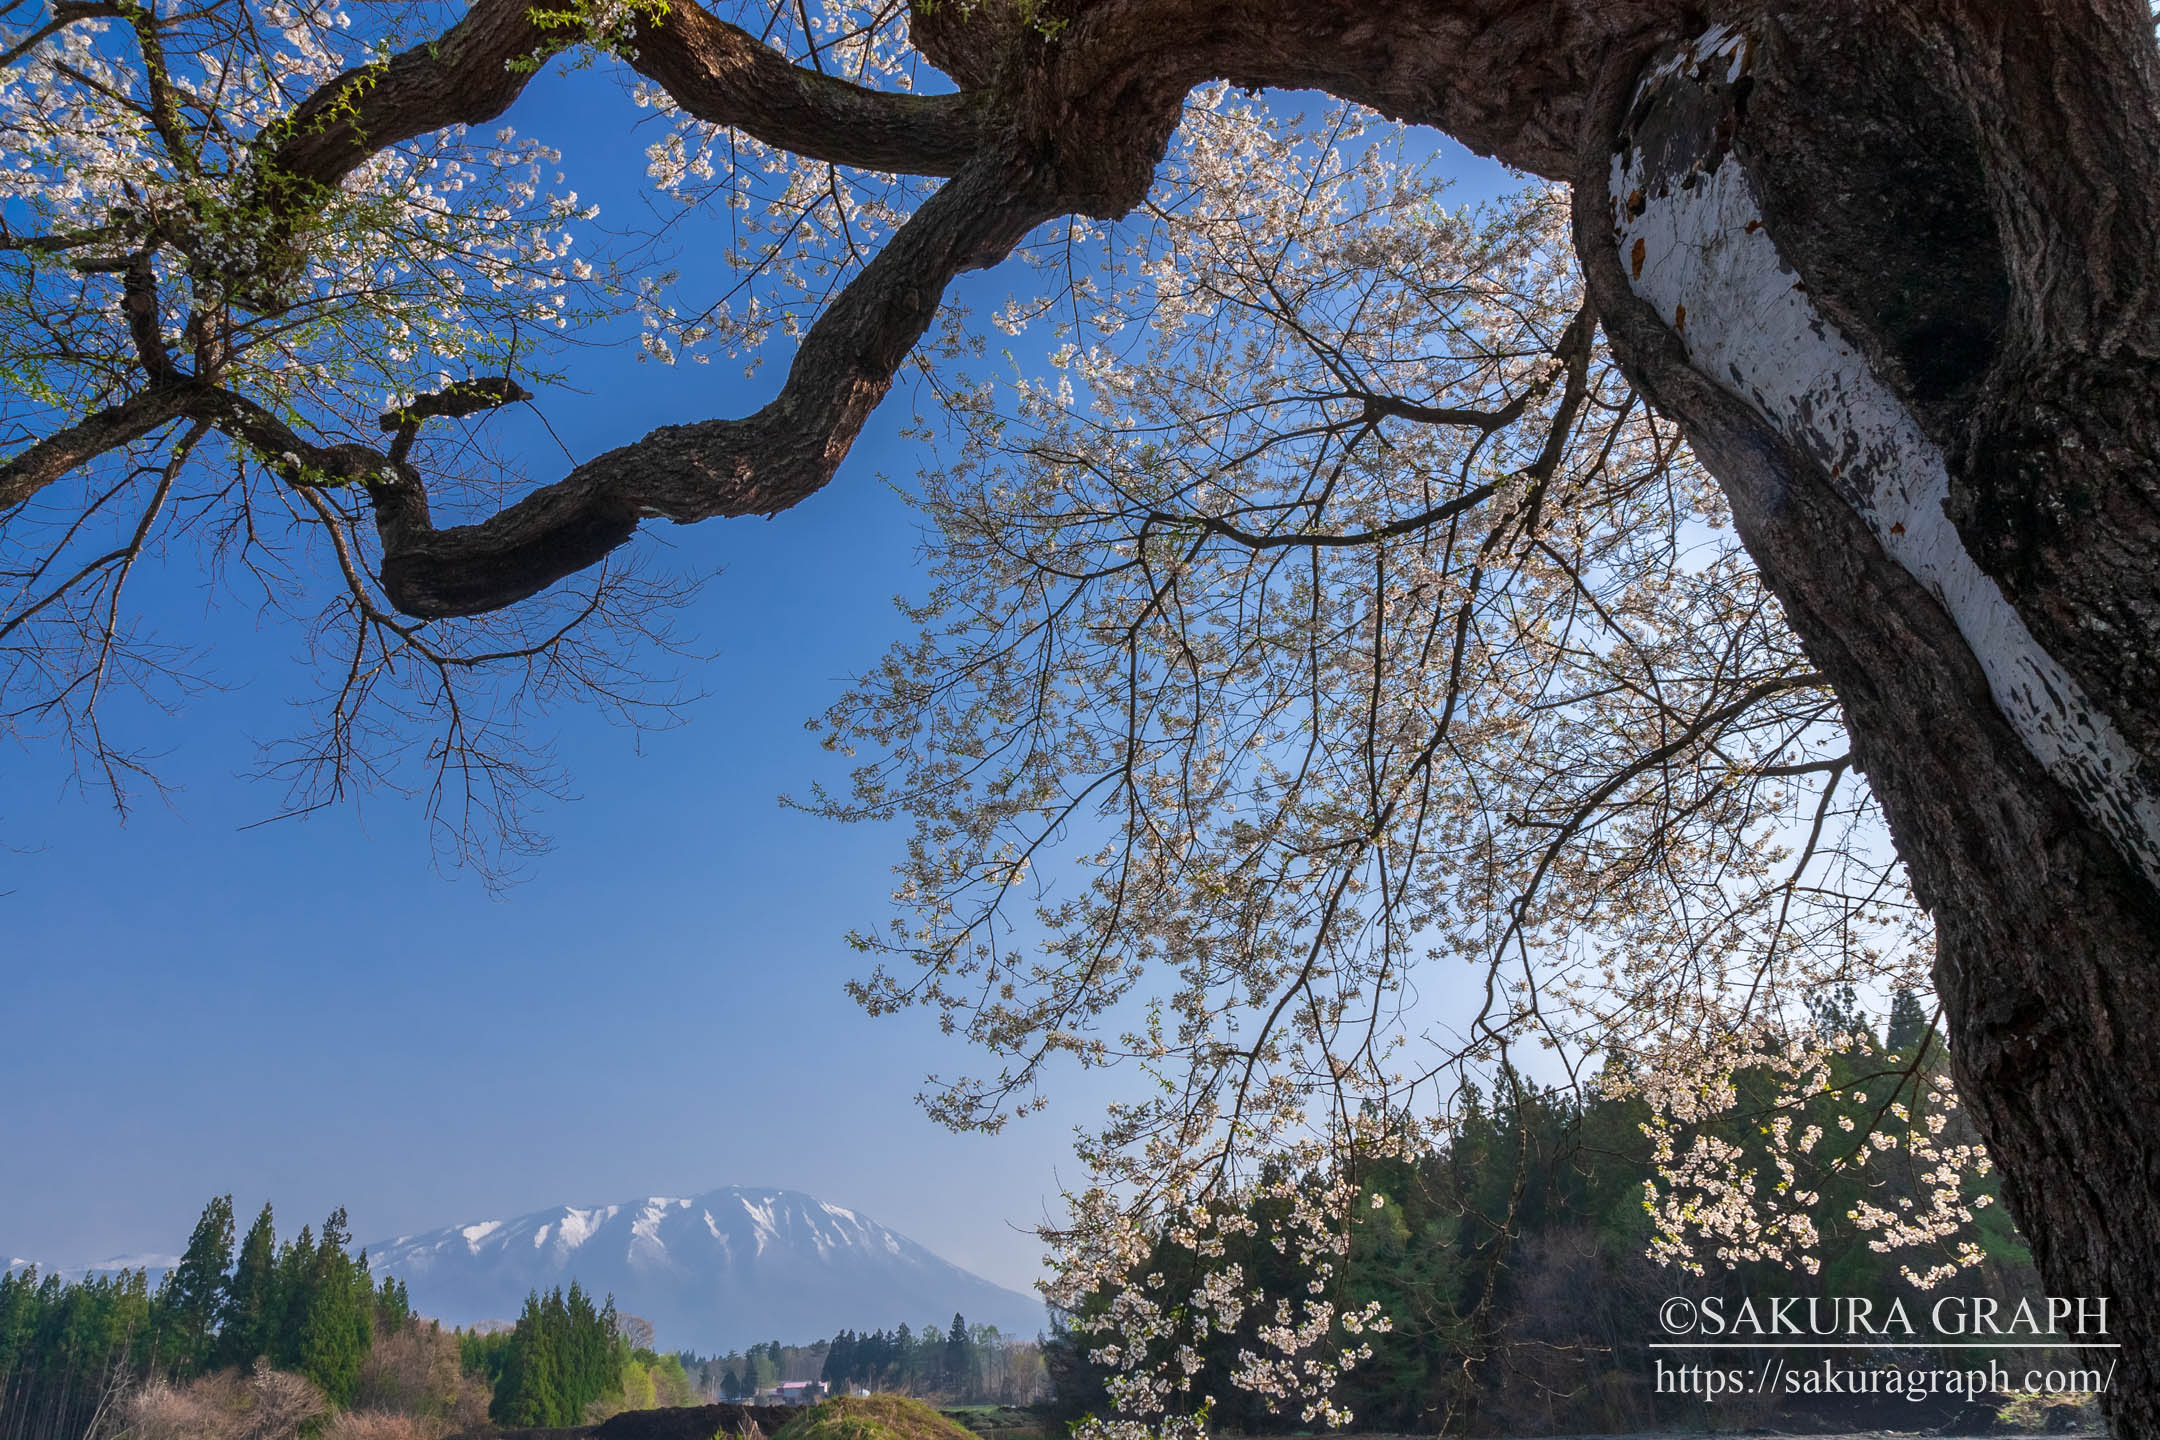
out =
<path fill-rule="evenodd" d="M 413 1308 L 449 1323 L 514 1319 L 527 1291 L 577 1280 L 644 1315 L 665 1349 L 728 1351 L 836 1330 L 940 1328 L 953 1315 L 1013 1336 L 1043 1306 L 942 1261 L 866 1215 L 795 1190 L 726 1187 L 482 1220 L 367 1246 Z"/>

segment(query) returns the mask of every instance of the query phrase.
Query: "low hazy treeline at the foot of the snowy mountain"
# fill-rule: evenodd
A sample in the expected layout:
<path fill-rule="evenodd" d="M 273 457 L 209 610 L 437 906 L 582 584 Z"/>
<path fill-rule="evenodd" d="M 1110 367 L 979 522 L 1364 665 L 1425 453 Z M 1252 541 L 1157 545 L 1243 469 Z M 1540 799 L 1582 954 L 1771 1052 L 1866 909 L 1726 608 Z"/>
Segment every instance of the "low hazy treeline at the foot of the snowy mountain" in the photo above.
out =
<path fill-rule="evenodd" d="M 724 1356 L 683 1351 L 680 1360 L 711 1399 L 747 1399 L 793 1380 L 823 1380 L 836 1395 L 890 1390 L 953 1405 L 1030 1405 L 1050 1393 L 1037 1341 L 970 1326 L 961 1315 L 922 1330 L 842 1330 L 810 1345 L 769 1341 Z"/>

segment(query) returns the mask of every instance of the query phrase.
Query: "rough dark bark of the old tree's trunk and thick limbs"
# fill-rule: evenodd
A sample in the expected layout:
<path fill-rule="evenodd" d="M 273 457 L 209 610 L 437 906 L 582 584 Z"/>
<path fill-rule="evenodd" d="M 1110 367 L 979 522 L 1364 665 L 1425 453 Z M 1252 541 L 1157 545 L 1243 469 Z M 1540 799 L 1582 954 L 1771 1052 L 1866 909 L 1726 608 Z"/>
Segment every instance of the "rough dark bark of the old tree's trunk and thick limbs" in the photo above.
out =
<path fill-rule="evenodd" d="M 916 0 L 914 35 L 959 95 L 791 67 L 691 0 L 635 37 L 700 117 L 950 177 L 758 415 L 659 430 L 436 529 L 404 445 L 311 447 L 181 373 L 151 326 L 143 391 L 0 464 L 0 507 L 194 417 L 292 484 L 365 484 L 400 609 L 499 609 L 648 516 L 769 514 L 823 486 L 944 285 L 1045 218 L 1136 205 L 1190 86 L 1324 89 L 1447 130 L 1575 188 L 1605 332 L 1726 486 L 1935 913 L 1959 1084 L 2041 1274 L 2112 1298 L 2112 1425 L 2160 1436 L 2145 0 Z M 501 112 L 525 73 L 505 60 L 544 43 L 527 0 L 473 0 L 324 86 L 266 138 L 264 175 L 305 205 L 380 145 Z"/>

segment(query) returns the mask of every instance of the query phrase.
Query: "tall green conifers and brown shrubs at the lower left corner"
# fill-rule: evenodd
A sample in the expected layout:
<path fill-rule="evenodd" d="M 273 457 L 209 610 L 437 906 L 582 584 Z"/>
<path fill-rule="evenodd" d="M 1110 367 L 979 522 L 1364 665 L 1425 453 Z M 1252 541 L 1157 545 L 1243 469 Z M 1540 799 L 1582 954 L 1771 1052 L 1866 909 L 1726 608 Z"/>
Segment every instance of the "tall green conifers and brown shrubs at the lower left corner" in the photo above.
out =
<path fill-rule="evenodd" d="M 156 1289 L 143 1269 L 0 1276 L 0 1440 L 438 1440 L 698 1399 L 613 1300 L 572 1285 L 510 1330 L 445 1332 L 350 1239 L 337 1209 L 279 1241 L 266 1205 L 235 1254 L 220 1196 Z"/>

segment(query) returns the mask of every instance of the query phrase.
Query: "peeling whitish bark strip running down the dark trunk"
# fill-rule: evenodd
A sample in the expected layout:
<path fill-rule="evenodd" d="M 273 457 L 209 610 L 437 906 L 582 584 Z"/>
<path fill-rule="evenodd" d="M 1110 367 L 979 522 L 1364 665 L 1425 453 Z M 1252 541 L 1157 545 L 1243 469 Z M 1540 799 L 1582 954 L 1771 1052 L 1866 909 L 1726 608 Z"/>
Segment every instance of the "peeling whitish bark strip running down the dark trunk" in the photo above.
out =
<path fill-rule="evenodd" d="M 1719 73 L 1732 82 L 1750 58 L 1747 39 L 1719 26 L 1655 67 L 1644 89 Z M 1884 551 L 1942 598 L 2033 756 L 2160 885 L 2160 797 L 2138 753 L 1972 561 L 1942 507 L 1942 451 L 1817 311 L 1741 162 L 1726 153 L 1685 184 L 1646 166 L 1639 147 L 1614 158 L 1614 235 L 1635 294 L 1680 335 L 1698 371 L 1812 453 Z"/>

